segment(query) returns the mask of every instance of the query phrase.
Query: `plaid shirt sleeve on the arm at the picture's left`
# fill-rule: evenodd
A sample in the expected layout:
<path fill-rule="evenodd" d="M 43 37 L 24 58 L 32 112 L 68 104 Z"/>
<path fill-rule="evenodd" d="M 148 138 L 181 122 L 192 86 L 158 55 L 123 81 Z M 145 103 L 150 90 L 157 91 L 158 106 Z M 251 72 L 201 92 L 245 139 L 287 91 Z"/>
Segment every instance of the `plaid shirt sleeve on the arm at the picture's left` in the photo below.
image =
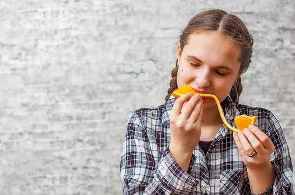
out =
<path fill-rule="evenodd" d="M 192 154 L 189 170 L 196 161 Z M 120 176 L 124 195 L 192 194 L 198 184 L 183 171 L 167 147 L 156 164 L 146 128 L 134 112 L 128 123 L 123 144 Z"/>

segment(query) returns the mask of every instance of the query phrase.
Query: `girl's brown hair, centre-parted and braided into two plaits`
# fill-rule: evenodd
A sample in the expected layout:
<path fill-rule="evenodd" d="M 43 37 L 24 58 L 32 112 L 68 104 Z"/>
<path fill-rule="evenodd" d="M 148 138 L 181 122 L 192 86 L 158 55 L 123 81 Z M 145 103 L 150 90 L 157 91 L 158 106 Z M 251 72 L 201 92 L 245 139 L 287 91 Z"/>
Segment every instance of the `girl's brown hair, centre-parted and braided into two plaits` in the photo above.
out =
<path fill-rule="evenodd" d="M 195 15 L 181 31 L 179 36 L 179 43 L 181 51 L 187 44 L 189 35 L 200 31 L 217 31 L 225 37 L 234 40 L 240 47 L 239 62 L 241 63 L 239 75 L 246 72 L 249 64 L 251 63 L 253 38 L 250 35 L 245 24 L 235 15 L 228 14 L 220 9 L 210 9 L 203 11 Z M 178 59 L 176 60 L 176 67 L 172 70 L 170 80 L 170 88 L 168 89 L 168 95 L 165 97 L 165 103 L 177 89 L 177 71 L 178 71 Z M 241 83 L 241 77 L 239 76 L 233 85 L 234 90 L 231 90 L 230 97 L 234 103 L 238 103 L 238 98 L 243 91 Z M 221 104 L 226 106 L 229 103 L 226 98 Z"/>

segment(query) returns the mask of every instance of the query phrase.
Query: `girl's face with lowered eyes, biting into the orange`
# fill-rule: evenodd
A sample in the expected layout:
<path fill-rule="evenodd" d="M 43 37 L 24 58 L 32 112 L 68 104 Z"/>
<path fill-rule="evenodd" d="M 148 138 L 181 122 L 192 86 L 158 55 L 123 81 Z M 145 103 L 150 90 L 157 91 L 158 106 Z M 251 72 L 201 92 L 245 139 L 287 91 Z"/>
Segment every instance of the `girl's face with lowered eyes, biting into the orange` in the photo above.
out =
<path fill-rule="evenodd" d="M 218 32 L 191 34 L 183 50 L 177 51 L 177 86 L 188 84 L 223 101 L 239 76 L 239 54 L 239 46 Z M 204 109 L 216 106 L 211 98 L 203 101 Z"/>

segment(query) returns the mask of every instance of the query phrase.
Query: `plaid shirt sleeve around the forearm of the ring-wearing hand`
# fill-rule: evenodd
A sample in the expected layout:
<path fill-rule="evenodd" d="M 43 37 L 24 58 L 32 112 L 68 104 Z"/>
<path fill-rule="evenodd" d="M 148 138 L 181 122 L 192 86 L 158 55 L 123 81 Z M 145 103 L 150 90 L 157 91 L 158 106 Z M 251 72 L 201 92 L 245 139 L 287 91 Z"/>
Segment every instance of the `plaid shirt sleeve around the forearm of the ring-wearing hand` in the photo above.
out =
<path fill-rule="evenodd" d="M 275 146 L 274 152 L 269 157 L 275 173 L 273 195 L 294 195 L 292 184 L 293 166 L 290 150 L 283 130 L 272 113 L 270 113 L 269 120 L 267 120 L 267 126 L 268 137 Z M 250 184 L 246 170 L 240 176 L 239 192 L 241 195 L 248 195 L 250 192 Z"/>

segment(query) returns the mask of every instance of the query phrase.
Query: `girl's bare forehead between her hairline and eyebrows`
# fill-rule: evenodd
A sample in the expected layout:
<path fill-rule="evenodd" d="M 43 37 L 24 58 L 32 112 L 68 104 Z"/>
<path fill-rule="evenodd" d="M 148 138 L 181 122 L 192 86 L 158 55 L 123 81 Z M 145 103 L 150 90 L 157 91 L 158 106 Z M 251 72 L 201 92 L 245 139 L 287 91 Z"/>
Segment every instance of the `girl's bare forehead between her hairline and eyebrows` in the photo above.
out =
<path fill-rule="evenodd" d="M 239 65 L 240 47 L 218 32 L 191 34 L 183 48 L 185 55 L 195 55 L 204 63 L 213 65 Z M 238 66 L 239 67 L 239 66 Z"/>

